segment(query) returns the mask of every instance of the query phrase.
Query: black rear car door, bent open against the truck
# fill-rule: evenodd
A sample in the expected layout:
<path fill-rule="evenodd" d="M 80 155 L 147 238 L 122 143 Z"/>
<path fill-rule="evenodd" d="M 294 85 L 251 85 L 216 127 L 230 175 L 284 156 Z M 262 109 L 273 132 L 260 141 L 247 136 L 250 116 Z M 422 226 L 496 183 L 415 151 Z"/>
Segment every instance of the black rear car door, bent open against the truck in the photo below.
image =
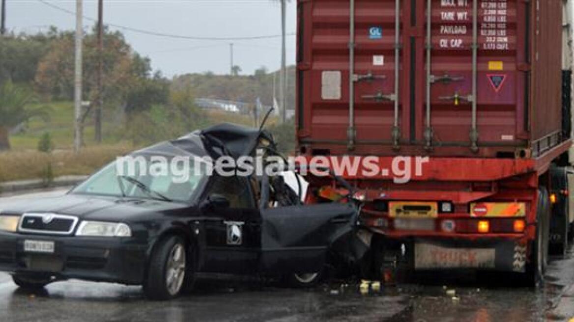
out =
<path fill-rule="evenodd" d="M 269 178 L 264 176 L 259 203 L 262 269 L 318 272 L 333 243 L 352 233 L 355 208 L 340 203 L 278 206 L 273 202 L 277 196 L 267 193 L 269 190 Z"/>

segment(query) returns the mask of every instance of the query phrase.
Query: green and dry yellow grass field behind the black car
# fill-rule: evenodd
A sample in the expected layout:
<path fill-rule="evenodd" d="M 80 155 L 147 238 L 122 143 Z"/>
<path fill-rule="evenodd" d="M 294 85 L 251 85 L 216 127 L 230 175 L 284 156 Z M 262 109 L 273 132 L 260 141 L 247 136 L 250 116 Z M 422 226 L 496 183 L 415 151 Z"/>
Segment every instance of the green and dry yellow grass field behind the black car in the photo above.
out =
<path fill-rule="evenodd" d="M 121 119 L 104 115 L 103 142 L 94 141 L 94 125 L 88 120 L 84 127 L 84 144 L 79 155 L 73 147 L 73 104 L 57 102 L 42 104 L 50 109 L 49 120 L 34 117 L 23 131 L 10 135 L 11 150 L 0 152 L 0 182 L 23 179 L 49 179 L 46 176 L 88 175 L 104 166 L 118 155 L 136 150 L 125 132 Z M 109 113 L 109 112 L 108 112 Z M 205 113 L 207 124 L 222 122 L 253 126 L 249 116 L 223 111 Z M 167 125 L 166 125 L 167 126 Z M 194 131 L 190 128 L 187 132 Z M 51 154 L 38 152 L 38 142 L 49 133 L 55 150 Z M 184 135 L 185 133 L 181 133 Z M 48 165 L 50 165 L 48 167 Z M 48 171 L 49 168 L 49 171 Z M 46 173 L 49 172 L 49 173 Z"/>

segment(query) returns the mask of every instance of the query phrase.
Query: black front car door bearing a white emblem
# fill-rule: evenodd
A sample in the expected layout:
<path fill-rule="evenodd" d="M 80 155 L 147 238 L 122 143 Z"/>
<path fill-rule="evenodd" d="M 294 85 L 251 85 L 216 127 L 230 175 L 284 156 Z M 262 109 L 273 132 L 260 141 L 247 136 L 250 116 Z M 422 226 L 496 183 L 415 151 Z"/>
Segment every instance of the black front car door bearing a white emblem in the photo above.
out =
<path fill-rule="evenodd" d="M 220 195 L 228 207 L 205 210 L 205 263 L 207 272 L 249 273 L 258 264 L 261 217 L 247 180 L 238 176 L 214 176 L 208 183 L 204 202 Z"/>

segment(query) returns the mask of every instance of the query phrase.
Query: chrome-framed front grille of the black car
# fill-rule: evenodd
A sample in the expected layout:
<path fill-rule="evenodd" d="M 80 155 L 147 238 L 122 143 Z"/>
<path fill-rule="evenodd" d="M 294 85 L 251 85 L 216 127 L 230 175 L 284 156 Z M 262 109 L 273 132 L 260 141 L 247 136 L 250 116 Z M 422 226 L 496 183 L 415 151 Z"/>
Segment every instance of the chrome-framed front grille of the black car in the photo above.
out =
<path fill-rule="evenodd" d="M 56 214 L 24 214 L 20 230 L 29 233 L 71 234 L 77 217 Z"/>

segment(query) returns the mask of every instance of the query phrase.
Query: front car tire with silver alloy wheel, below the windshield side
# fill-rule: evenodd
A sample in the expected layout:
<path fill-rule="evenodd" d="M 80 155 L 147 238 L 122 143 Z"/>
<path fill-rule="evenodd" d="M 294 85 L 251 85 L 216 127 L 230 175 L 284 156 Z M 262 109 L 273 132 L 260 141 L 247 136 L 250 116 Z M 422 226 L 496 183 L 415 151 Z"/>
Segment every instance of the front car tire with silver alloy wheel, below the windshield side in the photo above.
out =
<path fill-rule="evenodd" d="M 144 293 L 151 300 L 165 301 L 179 296 L 188 286 L 189 252 L 184 239 L 173 235 L 161 239 L 150 258 Z"/>

